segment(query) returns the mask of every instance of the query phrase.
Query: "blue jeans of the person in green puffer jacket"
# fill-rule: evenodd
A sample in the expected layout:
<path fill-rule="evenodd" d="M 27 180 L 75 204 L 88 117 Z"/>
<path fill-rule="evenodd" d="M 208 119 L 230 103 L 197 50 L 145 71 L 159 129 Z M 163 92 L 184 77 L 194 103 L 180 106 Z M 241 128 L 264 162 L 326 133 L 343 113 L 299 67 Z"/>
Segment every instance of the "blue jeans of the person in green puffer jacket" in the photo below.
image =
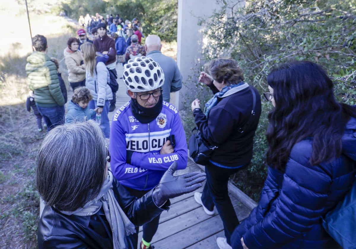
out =
<path fill-rule="evenodd" d="M 64 124 L 64 113 L 66 112 L 64 105 L 53 107 L 37 106 L 37 109 L 47 124 L 47 132 L 60 124 Z"/>

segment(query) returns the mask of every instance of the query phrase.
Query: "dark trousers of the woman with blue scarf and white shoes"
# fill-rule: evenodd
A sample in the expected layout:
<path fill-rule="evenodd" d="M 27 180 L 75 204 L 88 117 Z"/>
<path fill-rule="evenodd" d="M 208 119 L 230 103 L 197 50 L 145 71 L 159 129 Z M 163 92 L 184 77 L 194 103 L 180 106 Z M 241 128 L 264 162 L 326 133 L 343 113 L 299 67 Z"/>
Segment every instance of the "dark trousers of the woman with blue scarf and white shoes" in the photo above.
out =
<path fill-rule="evenodd" d="M 205 165 L 206 183 L 201 195 L 201 202 L 210 211 L 213 211 L 214 206 L 218 210 L 224 224 L 226 241 L 229 245 L 231 245 L 231 234 L 240 222 L 235 213 L 234 206 L 232 206 L 227 190 L 227 183 L 230 175 L 235 174 L 244 168 L 244 166 L 242 165 L 237 169 L 229 169 L 218 167 L 210 162 Z"/>

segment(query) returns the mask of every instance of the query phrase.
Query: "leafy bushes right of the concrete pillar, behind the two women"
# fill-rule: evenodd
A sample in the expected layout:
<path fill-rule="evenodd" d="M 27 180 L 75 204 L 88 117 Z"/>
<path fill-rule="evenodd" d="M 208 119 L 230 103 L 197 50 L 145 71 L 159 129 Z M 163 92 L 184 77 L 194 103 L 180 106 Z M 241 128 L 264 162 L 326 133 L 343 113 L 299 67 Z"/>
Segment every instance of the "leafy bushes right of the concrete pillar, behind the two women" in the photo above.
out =
<path fill-rule="evenodd" d="M 291 60 L 310 60 L 328 71 L 339 101 L 356 104 L 355 0 L 250 0 L 242 8 L 237 8 L 239 0 L 217 2 L 221 9 L 200 19 L 208 40 L 203 50 L 206 61 L 222 55 L 235 58 L 245 81 L 263 92 L 272 68 Z M 266 173 L 268 109 L 263 105 L 251 166 L 234 177 L 243 190 L 258 185 L 250 194 L 254 197 Z"/>

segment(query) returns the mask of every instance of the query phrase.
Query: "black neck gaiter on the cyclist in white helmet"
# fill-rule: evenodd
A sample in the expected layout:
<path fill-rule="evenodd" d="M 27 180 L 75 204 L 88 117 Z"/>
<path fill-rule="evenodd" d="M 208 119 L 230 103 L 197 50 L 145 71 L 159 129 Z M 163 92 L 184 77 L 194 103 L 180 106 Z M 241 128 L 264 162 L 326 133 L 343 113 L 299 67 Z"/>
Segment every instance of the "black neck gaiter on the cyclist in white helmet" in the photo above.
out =
<path fill-rule="evenodd" d="M 131 98 L 130 107 L 133 113 L 133 116 L 137 118 L 140 123 L 147 124 L 154 120 L 158 114 L 162 111 L 163 106 L 163 95 L 159 96 L 157 104 L 151 108 L 146 108 L 140 106 L 136 99 Z"/>

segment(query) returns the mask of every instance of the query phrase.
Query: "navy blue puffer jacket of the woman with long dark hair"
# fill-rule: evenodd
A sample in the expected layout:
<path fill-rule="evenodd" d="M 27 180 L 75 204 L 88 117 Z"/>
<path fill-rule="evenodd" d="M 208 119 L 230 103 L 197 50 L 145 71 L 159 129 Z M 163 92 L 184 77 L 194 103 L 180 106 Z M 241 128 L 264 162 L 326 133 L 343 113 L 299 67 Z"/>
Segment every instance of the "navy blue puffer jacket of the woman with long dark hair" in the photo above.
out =
<path fill-rule="evenodd" d="M 293 146 L 285 173 L 269 167 L 258 206 L 235 229 L 232 248 L 242 248 L 241 237 L 250 249 L 337 248 L 321 226 L 321 216 L 335 207 L 355 179 L 355 118 L 346 125 L 342 145 L 340 157 L 310 165 L 312 140 L 303 140 Z"/>

